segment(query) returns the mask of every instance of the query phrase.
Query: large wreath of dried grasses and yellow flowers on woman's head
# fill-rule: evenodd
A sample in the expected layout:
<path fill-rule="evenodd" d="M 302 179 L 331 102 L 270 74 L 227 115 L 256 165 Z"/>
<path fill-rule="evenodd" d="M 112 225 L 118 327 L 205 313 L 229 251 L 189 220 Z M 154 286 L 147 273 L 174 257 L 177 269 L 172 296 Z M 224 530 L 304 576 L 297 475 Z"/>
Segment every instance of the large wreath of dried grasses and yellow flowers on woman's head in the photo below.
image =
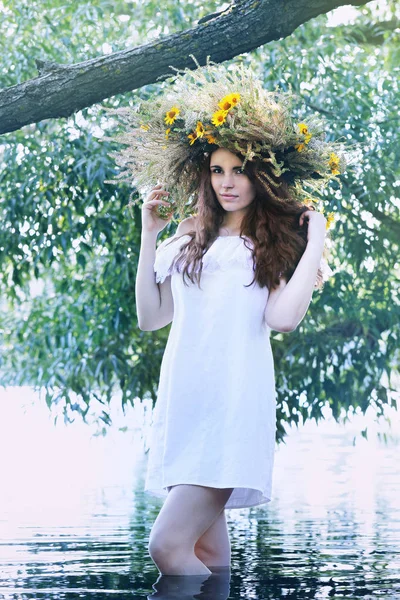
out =
<path fill-rule="evenodd" d="M 177 75 L 160 96 L 133 108 L 108 110 L 122 118 L 124 130 L 105 139 L 124 147 L 111 154 L 122 171 L 107 183 L 125 181 L 140 188 L 160 181 L 184 218 L 196 205 L 193 196 L 204 157 L 223 147 L 244 158 L 243 169 L 248 160 L 268 163 L 269 168 L 260 171 L 267 189 L 276 186 L 271 174 L 282 177 L 293 196 L 304 204 L 315 203 L 324 213 L 327 198 L 314 194 L 322 195 L 332 179 L 341 187 L 338 176 L 355 158 L 354 151 L 338 140 L 326 140 L 327 125 L 319 114 L 297 122 L 292 116 L 296 97 L 291 89 L 265 90 L 241 63 L 226 68 L 207 57 L 201 67 L 191 57 L 197 68 L 171 67 Z M 170 208 L 162 206 L 158 211 L 166 218 Z M 334 213 L 326 218 L 329 227 Z"/>

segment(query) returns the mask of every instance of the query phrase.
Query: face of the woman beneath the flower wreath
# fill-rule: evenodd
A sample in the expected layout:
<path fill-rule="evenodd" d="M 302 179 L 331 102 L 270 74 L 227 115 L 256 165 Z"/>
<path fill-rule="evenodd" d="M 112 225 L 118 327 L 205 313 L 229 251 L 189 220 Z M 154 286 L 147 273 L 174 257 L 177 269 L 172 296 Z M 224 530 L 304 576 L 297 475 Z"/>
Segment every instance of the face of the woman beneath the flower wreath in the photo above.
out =
<path fill-rule="evenodd" d="M 225 148 L 211 154 L 211 185 L 222 208 L 244 211 L 254 200 L 255 186 L 242 172 L 243 161 Z"/>

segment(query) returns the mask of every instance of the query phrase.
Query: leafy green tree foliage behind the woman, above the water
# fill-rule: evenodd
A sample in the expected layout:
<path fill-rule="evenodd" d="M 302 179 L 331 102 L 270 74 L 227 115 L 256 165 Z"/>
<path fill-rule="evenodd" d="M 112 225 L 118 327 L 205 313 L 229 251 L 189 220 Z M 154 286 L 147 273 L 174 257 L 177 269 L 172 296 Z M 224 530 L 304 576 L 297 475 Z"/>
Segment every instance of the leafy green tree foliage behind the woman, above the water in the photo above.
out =
<path fill-rule="evenodd" d="M 37 75 L 35 59 L 74 63 L 183 31 L 220 8 L 166 0 L 7 2 L 0 22 L 1 87 Z M 334 276 L 314 293 L 290 334 L 272 332 L 278 390 L 278 441 L 285 423 L 335 418 L 371 404 L 396 405 L 399 356 L 399 33 L 384 42 L 359 36 L 399 18 L 396 2 L 357 9 L 355 24 L 328 27 L 322 15 L 289 38 L 236 57 L 273 89 L 297 91 L 298 117 L 320 111 L 329 135 L 362 143 L 363 160 L 329 190 L 336 224 Z M 378 27 L 379 29 L 379 27 Z M 10 40 L 12 39 L 12 43 Z M 212 58 L 212 57 L 211 57 Z M 66 420 L 109 423 L 108 403 L 156 401 L 170 326 L 142 332 L 135 313 L 141 214 L 130 190 L 104 184 L 116 174 L 103 107 L 134 105 L 153 84 L 69 119 L 4 135 L 0 145 L 0 383 L 46 390 Z M 162 232 L 172 235 L 177 221 Z M 40 282 L 39 293 L 32 283 Z"/>

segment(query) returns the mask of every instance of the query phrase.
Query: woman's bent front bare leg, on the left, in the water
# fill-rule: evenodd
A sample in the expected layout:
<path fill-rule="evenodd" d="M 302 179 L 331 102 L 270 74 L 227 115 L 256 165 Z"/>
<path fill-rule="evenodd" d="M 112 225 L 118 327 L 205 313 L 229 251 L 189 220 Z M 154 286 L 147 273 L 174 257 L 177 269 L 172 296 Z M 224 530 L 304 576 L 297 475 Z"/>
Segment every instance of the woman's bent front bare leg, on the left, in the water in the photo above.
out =
<path fill-rule="evenodd" d="M 211 574 L 196 556 L 197 540 L 221 514 L 233 488 L 173 486 L 150 533 L 149 553 L 163 575 Z"/>

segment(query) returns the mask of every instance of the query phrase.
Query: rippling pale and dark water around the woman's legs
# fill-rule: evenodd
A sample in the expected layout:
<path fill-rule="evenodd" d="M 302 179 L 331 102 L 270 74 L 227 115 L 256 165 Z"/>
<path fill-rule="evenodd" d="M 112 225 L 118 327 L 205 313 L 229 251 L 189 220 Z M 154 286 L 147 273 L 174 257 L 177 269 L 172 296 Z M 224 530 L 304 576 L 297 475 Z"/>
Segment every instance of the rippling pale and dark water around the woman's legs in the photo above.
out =
<path fill-rule="evenodd" d="M 54 427 L 27 389 L 0 393 L 0 598 L 400 599 L 395 412 L 392 430 L 371 416 L 292 430 L 272 502 L 227 511 L 231 570 L 174 578 L 147 552 L 163 501 L 143 492 L 143 409 L 115 410 L 109 435 L 91 437 Z"/>

